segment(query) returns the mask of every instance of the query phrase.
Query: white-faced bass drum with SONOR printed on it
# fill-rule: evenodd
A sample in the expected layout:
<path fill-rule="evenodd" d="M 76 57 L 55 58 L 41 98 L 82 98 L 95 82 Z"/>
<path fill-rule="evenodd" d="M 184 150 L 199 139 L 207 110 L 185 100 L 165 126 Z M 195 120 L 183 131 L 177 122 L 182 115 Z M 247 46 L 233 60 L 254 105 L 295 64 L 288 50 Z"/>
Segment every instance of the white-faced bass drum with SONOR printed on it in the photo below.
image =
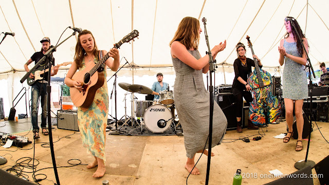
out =
<path fill-rule="evenodd" d="M 165 132 L 170 127 L 172 118 L 169 108 L 163 105 L 152 105 L 144 113 L 145 126 L 155 133 Z"/>

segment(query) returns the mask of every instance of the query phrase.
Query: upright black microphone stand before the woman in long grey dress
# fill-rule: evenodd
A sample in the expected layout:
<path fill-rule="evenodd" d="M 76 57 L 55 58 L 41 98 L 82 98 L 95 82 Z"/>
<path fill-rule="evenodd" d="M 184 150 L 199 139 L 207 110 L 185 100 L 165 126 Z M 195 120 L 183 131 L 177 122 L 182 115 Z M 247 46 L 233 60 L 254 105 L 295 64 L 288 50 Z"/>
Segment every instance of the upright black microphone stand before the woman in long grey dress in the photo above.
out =
<path fill-rule="evenodd" d="M 212 75 L 211 73 L 214 72 L 214 61 L 212 58 L 210 46 L 209 46 L 209 40 L 208 40 L 208 33 L 206 28 L 206 19 L 204 18 L 204 26 L 205 26 L 205 36 L 206 36 L 206 43 L 208 46 L 208 52 L 206 52 L 209 55 L 209 142 L 208 142 L 208 162 L 207 162 L 207 174 L 206 174 L 206 185 L 208 185 L 209 181 L 209 171 L 210 171 L 210 160 L 211 160 L 211 142 L 212 142 L 212 117 L 213 117 L 213 110 L 214 110 L 214 104 L 213 104 L 213 86 L 212 86 Z"/>

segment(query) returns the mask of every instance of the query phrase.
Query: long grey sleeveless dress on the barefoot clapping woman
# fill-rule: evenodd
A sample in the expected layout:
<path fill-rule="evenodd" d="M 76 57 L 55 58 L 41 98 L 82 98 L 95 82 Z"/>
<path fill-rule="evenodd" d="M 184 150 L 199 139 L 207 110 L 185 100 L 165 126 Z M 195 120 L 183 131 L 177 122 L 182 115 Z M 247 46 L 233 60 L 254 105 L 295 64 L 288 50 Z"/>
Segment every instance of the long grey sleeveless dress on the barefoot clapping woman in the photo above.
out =
<path fill-rule="evenodd" d="M 196 59 L 200 58 L 197 50 L 188 51 Z M 172 58 L 172 61 L 176 72 L 176 110 L 184 131 L 186 156 L 193 158 L 197 151 L 204 149 L 209 135 L 209 92 L 204 85 L 202 70 L 195 70 L 179 59 Z M 214 103 L 212 147 L 221 144 L 226 126 L 227 120 L 222 109 Z"/>

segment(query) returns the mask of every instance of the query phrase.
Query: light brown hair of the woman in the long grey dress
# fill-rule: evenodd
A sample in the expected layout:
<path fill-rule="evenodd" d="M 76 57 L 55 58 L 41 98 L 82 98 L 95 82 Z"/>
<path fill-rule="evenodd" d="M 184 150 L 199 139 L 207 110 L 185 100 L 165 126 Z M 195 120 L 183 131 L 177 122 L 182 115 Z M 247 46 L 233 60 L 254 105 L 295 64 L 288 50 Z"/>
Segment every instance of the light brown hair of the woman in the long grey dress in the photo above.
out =
<path fill-rule="evenodd" d="M 187 49 L 197 49 L 200 40 L 199 28 L 199 20 L 194 17 L 184 17 L 180 21 L 175 36 L 170 41 L 169 46 L 171 46 L 174 41 L 178 41 Z"/>

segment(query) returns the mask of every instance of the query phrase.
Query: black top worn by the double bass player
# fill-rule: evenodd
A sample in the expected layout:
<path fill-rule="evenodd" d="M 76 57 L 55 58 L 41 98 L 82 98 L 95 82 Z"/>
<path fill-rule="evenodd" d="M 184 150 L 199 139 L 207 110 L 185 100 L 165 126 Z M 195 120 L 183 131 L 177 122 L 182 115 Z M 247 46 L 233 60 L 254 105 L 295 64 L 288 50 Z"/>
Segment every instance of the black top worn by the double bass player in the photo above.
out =
<path fill-rule="evenodd" d="M 246 64 L 246 67 L 244 67 L 240 59 L 235 59 L 233 63 L 235 77 L 232 84 L 232 91 L 234 95 L 237 95 L 243 90 L 246 90 L 245 84 L 242 84 L 239 80 L 237 80 L 237 78 L 241 77 L 244 81 L 247 82 L 248 76 L 251 73 L 251 66 L 254 67 L 255 63 L 252 59 L 247 58 Z M 262 68 L 260 65 L 259 67 Z"/>

